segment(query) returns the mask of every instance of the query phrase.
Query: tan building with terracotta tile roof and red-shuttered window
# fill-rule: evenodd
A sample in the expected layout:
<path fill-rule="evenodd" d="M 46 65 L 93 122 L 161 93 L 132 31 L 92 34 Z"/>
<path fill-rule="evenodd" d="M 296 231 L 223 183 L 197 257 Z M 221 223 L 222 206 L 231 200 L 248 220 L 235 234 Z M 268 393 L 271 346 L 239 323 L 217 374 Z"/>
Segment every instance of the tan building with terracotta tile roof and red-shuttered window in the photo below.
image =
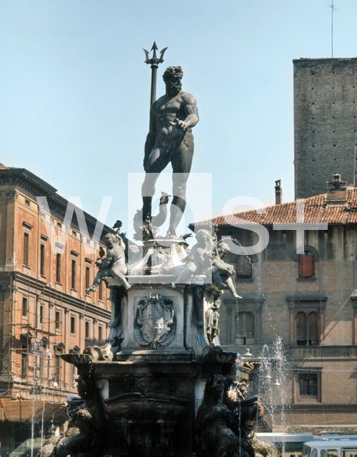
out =
<path fill-rule="evenodd" d="M 270 351 L 271 381 L 257 375 L 252 393 L 263 393 L 268 411 L 283 411 L 275 415 L 275 429 L 357 433 L 357 188 L 334 176 L 325 194 L 303 204 L 306 222 L 328 226 L 306 229 L 301 255 L 296 201 L 236 214 L 246 229 L 233 226 L 232 216 L 214 219 L 221 241 L 254 245 L 251 223 L 263 225 L 269 236 L 263 251 L 225 259 L 236 270 L 243 298 L 223 294 L 219 338 L 223 348 L 242 355 L 248 348 L 254 358 Z M 274 229 L 279 223 L 291 227 Z M 277 337 L 284 352 L 279 367 Z M 272 425 L 269 414 L 267 421 Z"/>

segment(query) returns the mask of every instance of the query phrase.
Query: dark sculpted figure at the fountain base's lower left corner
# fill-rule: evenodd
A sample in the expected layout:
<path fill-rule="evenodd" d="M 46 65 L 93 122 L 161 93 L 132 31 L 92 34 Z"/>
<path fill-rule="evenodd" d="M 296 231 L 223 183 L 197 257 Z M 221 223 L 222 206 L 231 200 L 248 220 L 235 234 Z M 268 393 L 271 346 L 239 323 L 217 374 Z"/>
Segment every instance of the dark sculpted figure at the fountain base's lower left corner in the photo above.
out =
<path fill-rule="evenodd" d="M 67 401 L 72 427 L 62 436 L 45 441 L 37 457 L 98 457 L 106 453 L 109 420 L 104 401 L 94 378 L 80 376 L 77 383 L 81 398 L 71 397 Z"/>

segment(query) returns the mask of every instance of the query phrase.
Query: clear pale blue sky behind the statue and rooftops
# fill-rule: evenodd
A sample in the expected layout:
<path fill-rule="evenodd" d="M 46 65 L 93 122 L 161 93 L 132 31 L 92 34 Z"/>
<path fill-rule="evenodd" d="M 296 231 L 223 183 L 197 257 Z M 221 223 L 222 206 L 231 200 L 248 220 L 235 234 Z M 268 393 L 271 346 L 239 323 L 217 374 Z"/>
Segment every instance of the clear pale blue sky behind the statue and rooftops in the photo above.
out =
<path fill-rule="evenodd" d="M 293 59 L 331 57 L 331 0 L 2 0 L 0 161 L 80 196 L 107 223 L 142 171 L 151 70 L 166 46 L 196 96 L 192 171 L 212 173 L 213 214 L 248 195 L 293 200 Z M 357 1 L 335 0 L 334 56 L 356 57 Z M 141 183 L 138 183 L 141 185 Z M 170 190 L 170 189 L 159 189 Z"/>

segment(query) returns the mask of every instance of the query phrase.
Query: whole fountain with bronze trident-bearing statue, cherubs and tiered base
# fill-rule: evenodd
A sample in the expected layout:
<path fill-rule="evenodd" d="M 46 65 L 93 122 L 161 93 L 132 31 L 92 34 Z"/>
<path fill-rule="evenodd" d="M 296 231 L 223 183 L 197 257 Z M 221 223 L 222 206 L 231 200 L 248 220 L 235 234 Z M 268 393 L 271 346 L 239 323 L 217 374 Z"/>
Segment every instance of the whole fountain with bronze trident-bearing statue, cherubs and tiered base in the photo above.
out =
<path fill-rule="evenodd" d="M 73 427 L 46 442 L 41 457 L 277 456 L 253 432 L 264 413 L 261 396 L 246 398 L 256 364 L 219 346 L 222 290 L 240 298 L 233 267 L 223 260 L 226 246 L 210 227 L 196 232 L 191 250 L 187 235 L 176 236 L 198 122 L 196 100 L 181 91 L 182 76 L 181 67 L 166 69 L 166 94 L 151 107 L 143 208 L 134 218 L 134 238 L 144 247 L 120 233 L 120 221 L 104 237 L 106 256 L 97 259 L 99 272 L 87 290 L 102 280 L 111 290 L 109 340 L 62 356 L 77 368 L 80 397 L 68 401 Z M 159 237 L 169 196 L 163 193 L 159 216 L 151 214 L 151 199 L 169 160 L 174 199 L 169 231 Z"/>

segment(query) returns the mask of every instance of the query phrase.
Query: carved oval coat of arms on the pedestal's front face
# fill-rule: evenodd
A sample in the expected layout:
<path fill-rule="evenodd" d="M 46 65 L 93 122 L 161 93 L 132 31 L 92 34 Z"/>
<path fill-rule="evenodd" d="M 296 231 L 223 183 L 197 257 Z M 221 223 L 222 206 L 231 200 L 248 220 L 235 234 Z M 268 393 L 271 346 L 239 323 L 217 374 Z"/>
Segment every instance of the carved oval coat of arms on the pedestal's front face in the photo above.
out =
<path fill-rule="evenodd" d="M 160 294 L 141 298 L 136 309 L 134 334 L 141 346 L 152 349 L 169 346 L 176 336 L 173 302 Z"/>

